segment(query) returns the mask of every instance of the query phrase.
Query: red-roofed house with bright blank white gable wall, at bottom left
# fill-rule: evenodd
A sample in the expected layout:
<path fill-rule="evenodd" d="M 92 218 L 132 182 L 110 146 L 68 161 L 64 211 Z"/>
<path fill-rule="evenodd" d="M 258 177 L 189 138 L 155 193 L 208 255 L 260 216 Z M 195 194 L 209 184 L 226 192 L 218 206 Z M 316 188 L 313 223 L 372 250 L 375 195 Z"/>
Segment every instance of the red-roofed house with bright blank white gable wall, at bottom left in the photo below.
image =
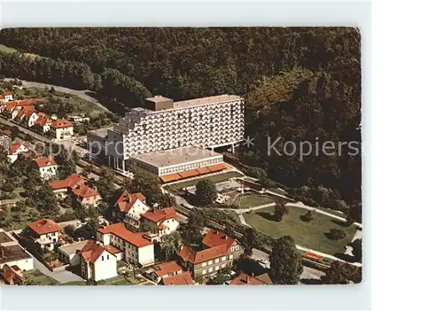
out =
<path fill-rule="evenodd" d="M 105 245 L 89 240 L 79 252 L 82 277 L 86 280 L 105 280 L 117 276 L 117 258 Z"/>

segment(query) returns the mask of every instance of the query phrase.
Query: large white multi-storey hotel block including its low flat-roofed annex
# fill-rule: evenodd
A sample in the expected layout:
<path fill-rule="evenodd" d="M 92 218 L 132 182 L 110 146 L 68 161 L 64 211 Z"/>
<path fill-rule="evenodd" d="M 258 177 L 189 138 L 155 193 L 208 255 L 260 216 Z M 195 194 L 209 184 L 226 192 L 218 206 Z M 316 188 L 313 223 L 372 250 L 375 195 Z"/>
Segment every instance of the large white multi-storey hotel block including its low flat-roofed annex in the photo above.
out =
<path fill-rule="evenodd" d="M 202 149 L 234 147 L 244 139 L 242 97 L 221 95 L 174 102 L 155 96 L 147 98 L 146 105 L 131 109 L 106 136 L 102 131 L 101 139 L 97 131 L 88 136 L 89 144 L 107 142 L 105 155 L 111 167 L 124 171 L 130 160 L 160 176 L 180 173 L 222 162 L 221 155 L 215 157 L 221 160 L 215 160 L 214 153 Z"/>

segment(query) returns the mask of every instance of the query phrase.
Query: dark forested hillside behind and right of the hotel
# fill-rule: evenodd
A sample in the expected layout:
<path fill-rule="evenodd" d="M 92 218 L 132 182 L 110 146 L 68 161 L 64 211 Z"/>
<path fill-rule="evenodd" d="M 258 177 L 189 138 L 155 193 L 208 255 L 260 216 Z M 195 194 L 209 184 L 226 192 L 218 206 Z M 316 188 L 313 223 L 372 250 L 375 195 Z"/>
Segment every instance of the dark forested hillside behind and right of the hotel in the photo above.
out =
<path fill-rule="evenodd" d="M 361 202 L 360 153 L 302 160 L 266 153 L 267 136 L 361 141 L 356 28 L 13 28 L 0 32 L 0 43 L 51 59 L 21 66 L 19 56 L 0 53 L 0 74 L 15 77 L 17 70 L 37 81 L 60 76 L 68 87 L 90 85 L 128 106 L 150 93 L 175 100 L 245 96 L 246 135 L 255 145 L 240 151 L 244 163 L 262 167 L 299 196 L 320 197 L 320 204 Z M 310 190 L 301 189 L 307 185 Z"/>

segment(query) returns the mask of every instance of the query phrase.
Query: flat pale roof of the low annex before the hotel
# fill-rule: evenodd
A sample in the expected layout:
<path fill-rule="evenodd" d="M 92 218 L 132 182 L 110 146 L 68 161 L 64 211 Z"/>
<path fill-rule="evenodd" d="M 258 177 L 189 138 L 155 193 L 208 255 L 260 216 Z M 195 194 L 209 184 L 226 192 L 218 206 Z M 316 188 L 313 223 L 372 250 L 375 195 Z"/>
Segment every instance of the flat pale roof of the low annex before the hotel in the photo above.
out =
<path fill-rule="evenodd" d="M 182 163 L 221 156 L 221 153 L 204 148 L 188 146 L 175 148 L 163 152 L 148 152 L 131 156 L 131 158 L 148 163 L 153 167 L 170 167 Z"/>

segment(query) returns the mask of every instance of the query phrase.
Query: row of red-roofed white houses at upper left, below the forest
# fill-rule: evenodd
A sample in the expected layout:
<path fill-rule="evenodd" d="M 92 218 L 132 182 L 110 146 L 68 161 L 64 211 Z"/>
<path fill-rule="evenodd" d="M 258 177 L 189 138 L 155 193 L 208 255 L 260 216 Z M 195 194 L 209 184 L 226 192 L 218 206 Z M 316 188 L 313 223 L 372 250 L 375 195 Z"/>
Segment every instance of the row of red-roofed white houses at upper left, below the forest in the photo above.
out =
<path fill-rule="evenodd" d="M 49 133 L 58 140 L 74 136 L 74 125 L 71 121 L 58 119 L 56 115 L 47 116 L 35 109 L 33 104 L 42 99 L 13 100 L 10 92 L 1 94 L 0 99 L 0 114 L 4 118 L 17 121 L 35 132 Z"/>

